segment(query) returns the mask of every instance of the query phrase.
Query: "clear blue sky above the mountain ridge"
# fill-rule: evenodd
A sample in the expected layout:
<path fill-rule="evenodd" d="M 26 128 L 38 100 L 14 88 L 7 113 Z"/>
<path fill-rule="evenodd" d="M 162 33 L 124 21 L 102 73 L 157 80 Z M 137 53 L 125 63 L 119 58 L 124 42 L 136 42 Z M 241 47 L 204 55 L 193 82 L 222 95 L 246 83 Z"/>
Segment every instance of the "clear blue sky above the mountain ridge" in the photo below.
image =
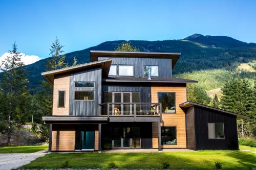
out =
<path fill-rule="evenodd" d="M 0 1 L 0 56 L 49 57 L 112 40 L 182 39 L 194 33 L 256 42 L 256 1 Z"/>

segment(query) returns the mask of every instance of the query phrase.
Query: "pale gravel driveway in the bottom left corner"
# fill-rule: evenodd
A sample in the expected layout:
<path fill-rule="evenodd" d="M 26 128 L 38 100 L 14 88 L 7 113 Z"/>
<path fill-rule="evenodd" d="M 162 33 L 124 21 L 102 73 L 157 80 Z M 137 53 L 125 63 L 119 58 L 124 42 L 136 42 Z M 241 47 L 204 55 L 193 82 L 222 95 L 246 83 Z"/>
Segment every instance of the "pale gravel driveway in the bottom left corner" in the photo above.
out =
<path fill-rule="evenodd" d="M 18 168 L 45 154 L 47 154 L 46 151 L 31 154 L 0 154 L 0 169 L 10 170 L 12 168 Z"/>

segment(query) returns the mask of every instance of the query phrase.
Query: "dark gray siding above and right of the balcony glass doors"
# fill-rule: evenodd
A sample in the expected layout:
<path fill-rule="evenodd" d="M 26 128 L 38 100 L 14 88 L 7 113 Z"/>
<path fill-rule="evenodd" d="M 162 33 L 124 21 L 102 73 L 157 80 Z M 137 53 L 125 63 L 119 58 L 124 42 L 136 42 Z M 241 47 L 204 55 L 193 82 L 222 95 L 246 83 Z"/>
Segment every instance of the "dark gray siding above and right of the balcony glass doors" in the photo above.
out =
<path fill-rule="evenodd" d="M 102 84 L 102 93 L 103 92 L 140 92 L 140 102 L 151 103 L 151 84 L 150 83 L 147 83 L 147 84 L 143 83 L 142 85 L 141 83 L 104 82 Z M 148 96 L 150 96 L 150 98 L 148 98 Z"/>

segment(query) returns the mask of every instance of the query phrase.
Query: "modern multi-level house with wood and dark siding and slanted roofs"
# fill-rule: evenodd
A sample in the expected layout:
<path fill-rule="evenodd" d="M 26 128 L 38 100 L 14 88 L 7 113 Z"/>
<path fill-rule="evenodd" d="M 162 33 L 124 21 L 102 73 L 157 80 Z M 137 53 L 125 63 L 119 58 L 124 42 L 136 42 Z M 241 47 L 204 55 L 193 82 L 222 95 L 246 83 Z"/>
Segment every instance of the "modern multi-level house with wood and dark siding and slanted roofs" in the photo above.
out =
<path fill-rule="evenodd" d="M 91 51 L 91 62 L 42 72 L 53 86 L 49 151 L 238 150 L 237 119 L 187 102 L 172 77 L 180 53 Z"/>

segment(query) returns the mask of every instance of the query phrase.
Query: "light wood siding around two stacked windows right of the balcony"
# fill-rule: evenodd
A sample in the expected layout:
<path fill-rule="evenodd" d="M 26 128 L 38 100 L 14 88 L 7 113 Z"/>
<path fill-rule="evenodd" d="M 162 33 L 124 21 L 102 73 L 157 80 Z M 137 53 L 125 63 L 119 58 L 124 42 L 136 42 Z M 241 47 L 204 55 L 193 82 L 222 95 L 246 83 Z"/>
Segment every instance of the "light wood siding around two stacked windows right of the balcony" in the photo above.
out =
<path fill-rule="evenodd" d="M 161 84 L 153 83 L 151 88 L 152 103 L 158 103 L 158 92 L 176 93 L 176 113 L 163 113 L 161 126 L 177 127 L 177 145 L 162 145 L 162 148 L 186 148 L 186 125 L 185 112 L 179 107 L 179 104 L 187 101 L 186 84 Z M 156 128 L 157 129 L 157 128 Z M 154 136 L 154 128 L 153 128 Z M 158 140 L 153 138 L 153 148 L 158 146 Z M 157 147 L 158 148 L 158 147 Z"/>

